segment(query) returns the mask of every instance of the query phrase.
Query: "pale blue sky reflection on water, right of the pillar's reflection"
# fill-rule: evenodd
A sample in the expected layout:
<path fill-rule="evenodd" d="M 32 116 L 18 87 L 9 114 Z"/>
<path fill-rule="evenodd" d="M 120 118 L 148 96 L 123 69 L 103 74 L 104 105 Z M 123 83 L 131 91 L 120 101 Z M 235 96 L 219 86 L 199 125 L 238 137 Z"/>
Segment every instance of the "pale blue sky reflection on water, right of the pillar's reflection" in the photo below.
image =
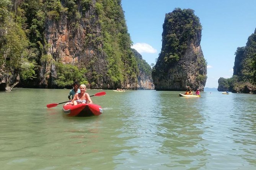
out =
<path fill-rule="evenodd" d="M 204 115 L 204 125 L 208 128 L 202 137 L 209 143 L 207 150 L 211 157 L 218 156 L 214 161 L 210 161 L 207 167 L 215 167 L 215 169 L 230 168 L 230 165 L 223 161 L 223 159 L 229 157 L 234 161 L 233 167 L 246 169 L 248 164 L 245 164 L 241 159 L 245 159 L 245 157 L 252 159 L 251 153 L 244 152 L 247 149 L 251 150 L 253 147 L 243 144 L 243 140 L 250 132 L 242 130 L 245 127 L 248 128 L 248 125 L 243 125 L 243 119 L 241 119 L 241 115 L 251 115 L 250 112 L 245 112 L 243 108 L 250 102 L 248 102 L 248 98 L 239 99 L 238 96 L 240 98 L 243 95 L 213 93 L 205 96 L 202 103 L 204 107 L 201 107 L 204 109 L 202 109 L 201 114 Z M 249 136 L 251 137 L 251 135 Z M 252 141 L 252 138 L 250 141 Z M 255 154 L 255 151 L 253 152 Z M 208 158 L 210 159 L 210 157 Z M 255 165 L 255 159 L 253 161 L 250 159 L 246 161 Z M 239 162 L 244 163 L 241 165 Z"/>

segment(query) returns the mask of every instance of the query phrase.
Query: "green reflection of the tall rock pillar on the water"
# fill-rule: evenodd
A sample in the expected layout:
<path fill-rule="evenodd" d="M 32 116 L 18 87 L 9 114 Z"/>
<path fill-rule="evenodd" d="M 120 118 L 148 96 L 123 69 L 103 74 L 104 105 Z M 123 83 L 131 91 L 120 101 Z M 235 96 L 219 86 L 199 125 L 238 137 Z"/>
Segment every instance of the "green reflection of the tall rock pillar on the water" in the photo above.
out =
<path fill-rule="evenodd" d="M 158 133 L 158 136 L 165 139 L 159 151 L 170 159 L 164 165 L 173 168 L 186 167 L 186 165 L 203 167 L 205 162 L 200 158 L 207 153 L 201 138 L 204 132 L 201 129 L 204 119 L 197 110 L 200 98 L 182 98 L 175 95 L 169 100 L 165 98 L 158 103 L 162 106 L 160 127 L 164 129 Z M 164 98 L 163 95 L 160 97 Z M 198 159 L 195 160 L 195 157 Z"/>

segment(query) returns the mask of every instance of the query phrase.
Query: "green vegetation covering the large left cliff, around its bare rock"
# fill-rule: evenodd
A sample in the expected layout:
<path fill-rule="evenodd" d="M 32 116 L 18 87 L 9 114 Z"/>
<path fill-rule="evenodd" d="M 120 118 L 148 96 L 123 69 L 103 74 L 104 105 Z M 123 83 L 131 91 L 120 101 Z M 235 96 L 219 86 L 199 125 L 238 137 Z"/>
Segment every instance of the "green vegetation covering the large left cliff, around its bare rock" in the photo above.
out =
<path fill-rule="evenodd" d="M 58 54 L 49 54 L 46 25 L 58 25 L 63 19 L 72 33 L 69 38 L 85 32 L 82 50 L 96 51 L 93 57 L 78 56 L 78 62 L 64 64 Z M 76 79 L 98 88 L 124 88 L 131 82 L 135 87 L 139 69 L 131 43 L 121 0 L 0 1 L 0 64 L 4 72 L 18 72 L 24 87 L 71 87 Z M 103 56 L 106 71 L 96 66 L 98 56 Z M 51 75 L 52 65 L 56 77 Z M 77 70 L 78 75 L 67 73 Z M 45 85 L 39 77 L 46 79 Z"/>

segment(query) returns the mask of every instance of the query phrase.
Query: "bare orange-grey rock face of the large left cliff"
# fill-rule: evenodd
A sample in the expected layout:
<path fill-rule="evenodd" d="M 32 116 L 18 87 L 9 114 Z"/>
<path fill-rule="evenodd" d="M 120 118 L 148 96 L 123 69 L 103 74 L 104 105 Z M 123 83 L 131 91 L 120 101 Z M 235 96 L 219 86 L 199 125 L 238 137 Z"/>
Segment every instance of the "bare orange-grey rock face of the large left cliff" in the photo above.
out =
<path fill-rule="evenodd" d="M 95 11 L 96 0 L 92 0 L 90 8 L 83 13 L 83 18 L 74 21 L 69 19 L 65 13 L 60 14 L 60 19 L 49 17 L 46 19 L 44 36 L 49 44 L 47 55 L 51 55 L 54 61 L 64 64 L 77 63 L 78 67 L 88 69 L 88 82 L 93 82 L 91 73 L 106 75 L 106 55 L 102 47 L 101 26 Z M 82 7 L 77 2 L 78 11 L 82 14 Z M 95 17 L 91 17 L 95 16 Z M 90 37 L 93 35 L 93 37 Z M 92 43 L 96 39 L 96 43 Z M 93 63 L 90 63 L 93 61 Z M 54 63 L 44 61 L 41 63 L 40 82 L 42 87 L 54 88 L 54 80 L 57 70 Z M 49 76 L 47 76 L 49 75 Z M 91 88 L 102 88 L 106 86 L 106 80 L 101 76 Z"/>

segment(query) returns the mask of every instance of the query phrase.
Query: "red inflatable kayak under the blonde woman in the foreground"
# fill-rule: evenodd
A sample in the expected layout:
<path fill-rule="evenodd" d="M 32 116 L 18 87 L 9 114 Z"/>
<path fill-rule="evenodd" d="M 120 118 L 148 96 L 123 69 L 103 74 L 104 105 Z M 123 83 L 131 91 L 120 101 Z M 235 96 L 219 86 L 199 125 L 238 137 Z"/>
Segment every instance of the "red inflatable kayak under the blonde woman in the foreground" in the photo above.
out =
<path fill-rule="evenodd" d="M 63 106 L 64 114 L 68 116 L 92 116 L 92 115 L 100 115 L 103 110 L 101 106 L 97 104 L 77 104 L 75 106 L 71 104 L 67 104 Z"/>

